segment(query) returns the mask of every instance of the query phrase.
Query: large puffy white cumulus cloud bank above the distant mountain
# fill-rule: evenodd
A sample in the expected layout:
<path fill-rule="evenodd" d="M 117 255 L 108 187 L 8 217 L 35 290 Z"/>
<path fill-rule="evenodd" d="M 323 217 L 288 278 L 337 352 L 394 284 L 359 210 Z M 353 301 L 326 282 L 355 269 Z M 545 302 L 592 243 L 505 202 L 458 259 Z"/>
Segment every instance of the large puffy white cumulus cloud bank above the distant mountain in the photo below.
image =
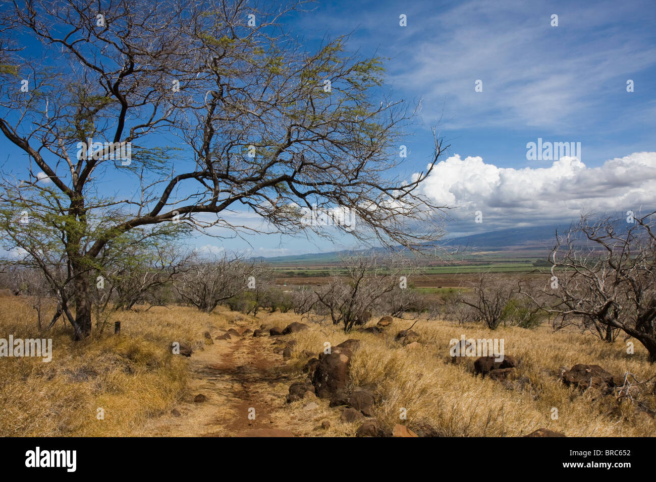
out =
<path fill-rule="evenodd" d="M 644 210 L 656 205 L 656 152 L 632 153 L 600 167 L 562 157 L 550 167 L 523 169 L 454 155 L 436 165 L 422 192 L 456 208 L 452 214 L 461 220 L 473 222 L 473 213 L 482 211 L 486 231 L 560 222 L 581 211 Z"/>

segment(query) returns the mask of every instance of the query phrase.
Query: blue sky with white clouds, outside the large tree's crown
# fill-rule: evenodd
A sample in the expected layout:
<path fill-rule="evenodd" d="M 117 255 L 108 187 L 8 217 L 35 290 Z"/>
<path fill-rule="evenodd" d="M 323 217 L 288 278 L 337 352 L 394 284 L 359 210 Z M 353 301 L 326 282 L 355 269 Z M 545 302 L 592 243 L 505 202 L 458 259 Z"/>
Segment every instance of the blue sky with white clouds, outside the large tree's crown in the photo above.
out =
<path fill-rule="evenodd" d="M 436 126 L 451 147 L 423 191 L 455 208 L 447 230 L 460 235 L 656 204 L 654 7 L 653 0 L 332 1 L 285 23 L 310 50 L 325 34 L 350 33 L 350 50 L 389 57 L 387 85 L 422 106 L 407 132 L 403 172 L 425 167 Z M 527 143 L 538 138 L 580 142 L 580 158 L 528 160 Z M 476 211 L 483 224 L 474 224 Z M 257 223 L 246 212 L 232 216 Z M 210 251 L 251 251 L 250 244 L 262 256 L 354 247 L 345 238 L 274 235 L 194 243 Z"/>

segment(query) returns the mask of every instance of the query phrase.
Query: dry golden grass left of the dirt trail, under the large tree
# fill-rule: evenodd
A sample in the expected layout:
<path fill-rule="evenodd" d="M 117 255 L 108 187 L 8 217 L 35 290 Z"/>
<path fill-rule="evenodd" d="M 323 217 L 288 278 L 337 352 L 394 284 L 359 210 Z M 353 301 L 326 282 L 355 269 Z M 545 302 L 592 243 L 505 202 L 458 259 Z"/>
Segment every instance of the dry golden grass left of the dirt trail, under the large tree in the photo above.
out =
<path fill-rule="evenodd" d="M 51 313 L 52 314 L 52 313 Z M 52 361 L 0 358 L 0 436 L 134 435 L 184 396 L 188 359 L 173 341 L 200 349 L 203 332 L 228 324 L 222 313 L 191 308 L 117 312 L 121 336 L 72 342 L 62 321 L 39 334 L 24 298 L 0 298 L 0 338 L 52 338 Z M 104 409 L 104 420 L 96 418 Z"/>

